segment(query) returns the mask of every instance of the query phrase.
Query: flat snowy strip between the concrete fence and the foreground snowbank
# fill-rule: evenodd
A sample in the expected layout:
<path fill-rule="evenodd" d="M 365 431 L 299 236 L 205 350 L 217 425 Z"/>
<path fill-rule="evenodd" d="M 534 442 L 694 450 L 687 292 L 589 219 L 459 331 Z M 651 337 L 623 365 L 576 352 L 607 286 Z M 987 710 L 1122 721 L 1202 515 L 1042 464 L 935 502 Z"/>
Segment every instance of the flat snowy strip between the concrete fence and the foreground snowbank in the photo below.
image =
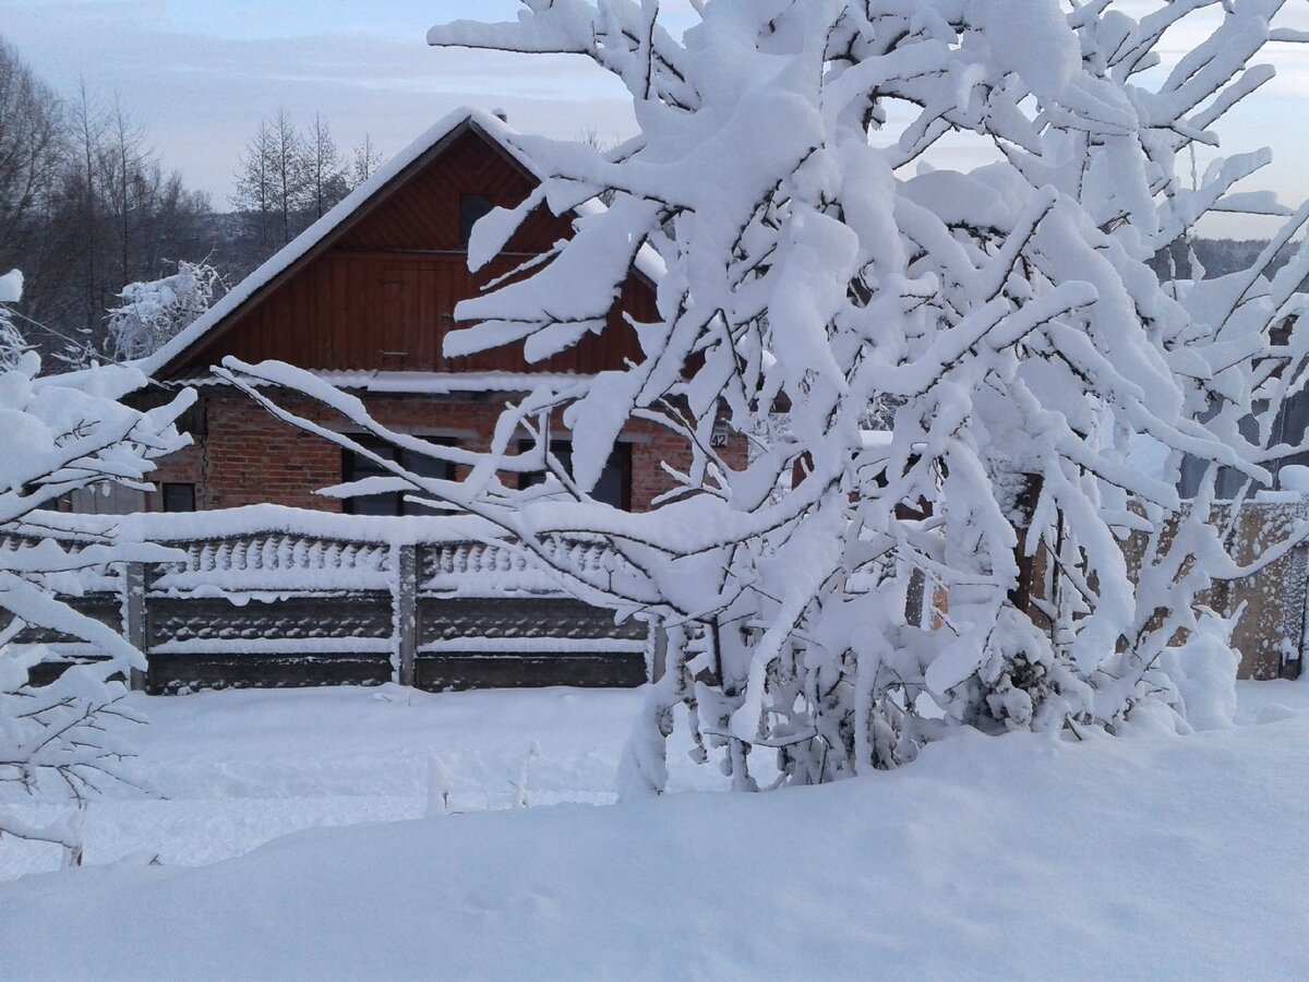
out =
<path fill-rule="evenodd" d="M 128 728 L 140 752 L 134 770 L 158 797 L 119 787 L 93 801 L 86 863 L 157 854 L 165 865 L 200 865 L 301 829 L 418 818 L 433 758 L 452 812 L 512 808 L 533 744 L 541 755 L 528 762 L 529 804 L 609 804 L 640 699 L 630 690 L 433 695 L 390 685 L 134 694 L 151 719 Z M 679 788 L 723 786 L 679 746 L 670 748 Z M 31 820 L 67 812 L 9 800 Z M 55 846 L 5 837 L 0 881 L 58 868 L 59 856 Z"/>

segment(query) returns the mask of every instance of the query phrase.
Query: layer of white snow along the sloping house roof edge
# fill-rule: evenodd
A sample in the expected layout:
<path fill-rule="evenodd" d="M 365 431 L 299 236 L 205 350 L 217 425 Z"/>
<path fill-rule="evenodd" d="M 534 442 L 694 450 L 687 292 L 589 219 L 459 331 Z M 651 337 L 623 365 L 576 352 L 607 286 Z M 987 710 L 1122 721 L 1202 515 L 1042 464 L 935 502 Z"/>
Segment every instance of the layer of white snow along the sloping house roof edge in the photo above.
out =
<path fill-rule="evenodd" d="M 482 109 L 469 106 L 457 109 L 373 172 L 367 181 L 351 191 L 336 207 L 278 250 L 194 323 L 171 338 L 158 351 L 134 364 L 147 376 L 156 376 L 164 368 L 169 367 L 247 301 L 262 293 L 281 274 L 309 255 L 338 228 L 346 225 L 367 202 L 391 186 L 415 162 L 462 131 L 466 126 L 480 131 L 534 178 L 538 181 L 543 179 L 541 169 L 513 139 L 516 136 L 514 130 L 503 119 Z M 577 208 L 577 213 L 586 215 L 603 207 L 600 202 L 585 202 Z M 645 246 L 637 254 L 636 268 L 651 280 L 657 280 L 662 275 L 664 264 L 654 250 Z"/>

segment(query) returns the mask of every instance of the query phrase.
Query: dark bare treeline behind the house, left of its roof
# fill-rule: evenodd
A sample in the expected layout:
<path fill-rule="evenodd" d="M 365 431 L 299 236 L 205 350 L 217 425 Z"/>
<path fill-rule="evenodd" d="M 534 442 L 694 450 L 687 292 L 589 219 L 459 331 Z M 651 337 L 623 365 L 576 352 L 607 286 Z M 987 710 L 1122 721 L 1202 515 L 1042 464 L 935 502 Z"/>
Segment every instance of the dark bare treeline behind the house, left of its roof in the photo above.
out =
<path fill-rule="evenodd" d="M 232 285 L 381 158 L 365 136 L 347 160 L 321 115 L 300 130 L 281 110 L 237 157 L 238 191 L 224 203 L 233 211 L 216 212 L 117 96 L 85 85 L 56 94 L 0 38 L 0 275 L 24 274 L 16 319 L 27 343 L 47 356 L 102 356 L 123 287 L 181 261 L 209 263 Z"/>

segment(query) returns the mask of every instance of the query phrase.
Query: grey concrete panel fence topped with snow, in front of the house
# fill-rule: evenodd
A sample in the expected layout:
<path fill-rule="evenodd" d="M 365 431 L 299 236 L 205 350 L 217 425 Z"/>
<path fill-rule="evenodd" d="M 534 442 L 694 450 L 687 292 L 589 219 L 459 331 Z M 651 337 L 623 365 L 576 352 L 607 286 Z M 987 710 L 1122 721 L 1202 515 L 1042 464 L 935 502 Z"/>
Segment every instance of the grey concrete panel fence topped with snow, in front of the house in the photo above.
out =
<path fill-rule="evenodd" d="M 648 623 L 568 597 L 492 529 L 463 517 L 394 518 L 258 505 L 194 515 L 42 516 L 71 549 L 113 525 L 168 545 L 169 563 L 111 568 L 72 602 L 122 630 L 149 670 L 134 685 L 378 683 L 423 689 L 639 685 Z M 12 543 L 0 543 L 12 547 Z M 575 563 L 613 563 L 562 541 Z M 22 642 L 67 642 L 31 630 Z M 69 651 L 64 648 L 64 651 Z"/>

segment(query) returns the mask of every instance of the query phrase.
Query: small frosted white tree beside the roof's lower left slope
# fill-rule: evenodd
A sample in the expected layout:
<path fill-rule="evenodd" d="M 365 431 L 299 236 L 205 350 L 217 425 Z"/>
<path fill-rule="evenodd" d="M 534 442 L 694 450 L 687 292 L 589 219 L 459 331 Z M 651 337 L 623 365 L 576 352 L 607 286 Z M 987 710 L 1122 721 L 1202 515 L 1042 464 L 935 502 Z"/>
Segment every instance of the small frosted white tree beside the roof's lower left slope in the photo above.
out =
<path fill-rule="evenodd" d="M 170 276 L 128 283 L 118 295 L 122 302 L 109 312 L 110 354 L 118 361 L 153 354 L 208 310 L 223 289 L 217 270 L 185 259 Z"/>

